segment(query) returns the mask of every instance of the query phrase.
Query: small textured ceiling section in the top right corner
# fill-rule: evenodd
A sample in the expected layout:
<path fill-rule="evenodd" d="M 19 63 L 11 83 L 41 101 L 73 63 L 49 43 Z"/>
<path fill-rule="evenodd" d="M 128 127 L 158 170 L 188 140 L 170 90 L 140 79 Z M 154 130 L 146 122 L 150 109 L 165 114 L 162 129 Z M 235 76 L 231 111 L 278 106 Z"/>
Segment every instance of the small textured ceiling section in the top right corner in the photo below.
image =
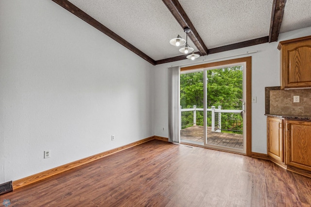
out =
<path fill-rule="evenodd" d="M 311 27 L 311 0 L 287 0 L 280 32 Z"/>

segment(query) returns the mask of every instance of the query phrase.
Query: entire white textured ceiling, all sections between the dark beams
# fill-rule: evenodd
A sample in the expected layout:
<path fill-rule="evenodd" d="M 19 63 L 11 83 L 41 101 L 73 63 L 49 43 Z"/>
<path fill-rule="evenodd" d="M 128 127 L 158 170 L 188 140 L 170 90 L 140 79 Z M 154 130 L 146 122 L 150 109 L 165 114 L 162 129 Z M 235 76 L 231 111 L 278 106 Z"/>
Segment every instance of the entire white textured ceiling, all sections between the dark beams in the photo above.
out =
<path fill-rule="evenodd" d="M 186 34 L 162 0 L 69 1 L 154 60 L 182 55 L 169 41 Z M 269 35 L 273 0 L 179 3 L 208 49 Z M 281 32 L 310 27 L 310 11 L 311 0 L 287 0 Z"/>

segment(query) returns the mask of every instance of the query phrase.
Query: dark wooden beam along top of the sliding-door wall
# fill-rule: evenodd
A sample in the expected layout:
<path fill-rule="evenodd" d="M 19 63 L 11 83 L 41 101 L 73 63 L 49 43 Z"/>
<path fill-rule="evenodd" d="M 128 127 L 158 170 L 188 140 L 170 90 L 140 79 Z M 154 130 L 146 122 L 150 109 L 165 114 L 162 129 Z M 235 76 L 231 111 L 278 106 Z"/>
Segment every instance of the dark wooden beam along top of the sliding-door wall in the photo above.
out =
<path fill-rule="evenodd" d="M 262 43 L 267 43 L 268 40 L 269 40 L 269 36 L 264 36 L 264 37 L 260 37 L 257 39 L 243 41 L 243 42 L 239 42 L 239 43 L 235 43 L 235 44 L 231 44 L 231 45 L 225 45 L 222 47 L 209 49 L 208 54 L 214 54 L 214 53 L 218 53 L 218 52 L 225 52 L 225 51 L 235 50 L 235 49 L 239 49 L 239 48 L 245 48 L 245 47 L 249 47 L 249 46 L 253 46 L 253 45 L 259 45 Z M 199 52 L 196 52 L 196 53 L 199 54 Z M 177 56 L 177 57 L 166 58 L 166 59 L 162 59 L 162 60 L 156 60 L 155 65 L 163 64 L 163 63 L 170 63 L 170 62 L 174 62 L 174 61 L 178 61 L 178 60 L 184 60 L 185 58 L 186 58 L 185 55 L 181 55 L 181 56 Z"/>

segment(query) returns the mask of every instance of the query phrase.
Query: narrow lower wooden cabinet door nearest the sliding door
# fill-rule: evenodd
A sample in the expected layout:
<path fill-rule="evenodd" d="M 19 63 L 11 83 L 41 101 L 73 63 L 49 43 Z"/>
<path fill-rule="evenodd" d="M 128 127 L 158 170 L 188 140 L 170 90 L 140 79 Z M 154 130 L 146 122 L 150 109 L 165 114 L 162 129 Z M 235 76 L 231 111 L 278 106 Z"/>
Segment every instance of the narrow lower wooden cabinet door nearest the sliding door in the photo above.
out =
<path fill-rule="evenodd" d="M 283 119 L 267 118 L 267 153 L 270 157 L 283 162 Z"/>

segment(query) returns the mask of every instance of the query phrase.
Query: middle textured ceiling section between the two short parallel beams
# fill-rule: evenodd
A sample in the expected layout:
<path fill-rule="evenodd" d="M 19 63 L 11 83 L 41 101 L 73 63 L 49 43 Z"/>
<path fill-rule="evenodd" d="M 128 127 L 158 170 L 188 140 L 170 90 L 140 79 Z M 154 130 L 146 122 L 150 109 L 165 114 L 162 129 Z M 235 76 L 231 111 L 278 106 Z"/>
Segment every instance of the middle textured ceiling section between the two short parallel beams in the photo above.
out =
<path fill-rule="evenodd" d="M 269 35 L 273 0 L 178 0 L 207 48 Z"/>

